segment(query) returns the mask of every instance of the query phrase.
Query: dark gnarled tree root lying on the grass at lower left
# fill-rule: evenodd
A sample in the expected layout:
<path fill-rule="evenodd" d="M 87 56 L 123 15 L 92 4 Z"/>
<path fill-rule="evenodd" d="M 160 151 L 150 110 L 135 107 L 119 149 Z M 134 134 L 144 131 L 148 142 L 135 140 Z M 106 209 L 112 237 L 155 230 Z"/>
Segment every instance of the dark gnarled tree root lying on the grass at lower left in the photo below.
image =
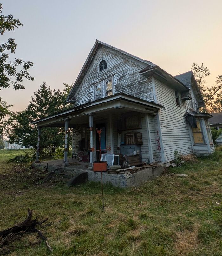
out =
<path fill-rule="evenodd" d="M 20 239 L 23 234 L 36 232 L 39 234 L 39 237 L 45 241 L 47 247 L 52 252 L 52 247 L 49 246 L 47 237 L 45 237 L 40 230 L 36 229 L 37 225 L 41 227 L 41 224 L 46 222 L 48 219 L 46 218 L 43 221 L 38 221 L 37 218 L 38 216 L 36 216 L 36 218 L 32 220 L 32 210 L 28 209 L 28 215 L 26 220 L 16 224 L 13 227 L 0 231 L 0 250 L 7 250 L 7 245 L 9 243 L 12 243 L 16 239 Z"/>

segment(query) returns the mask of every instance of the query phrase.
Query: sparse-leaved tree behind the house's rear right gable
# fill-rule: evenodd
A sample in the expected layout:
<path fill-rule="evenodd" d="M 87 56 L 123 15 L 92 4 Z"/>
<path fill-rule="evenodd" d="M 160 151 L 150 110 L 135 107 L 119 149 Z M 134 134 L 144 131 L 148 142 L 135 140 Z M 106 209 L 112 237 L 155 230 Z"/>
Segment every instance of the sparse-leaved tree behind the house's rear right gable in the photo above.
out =
<path fill-rule="evenodd" d="M 222 75 L 217 76 L 215 81 L 216 84 L 211 87 L 206 87 L 205 79 L 210 75 L 210 70 L 207 67 L 204 67 L 203 63 L 201 66 L 193 63 L 192 69 L 197 85 L 204 98 L 206 110 L 209 112 L 222 111 Z"/>

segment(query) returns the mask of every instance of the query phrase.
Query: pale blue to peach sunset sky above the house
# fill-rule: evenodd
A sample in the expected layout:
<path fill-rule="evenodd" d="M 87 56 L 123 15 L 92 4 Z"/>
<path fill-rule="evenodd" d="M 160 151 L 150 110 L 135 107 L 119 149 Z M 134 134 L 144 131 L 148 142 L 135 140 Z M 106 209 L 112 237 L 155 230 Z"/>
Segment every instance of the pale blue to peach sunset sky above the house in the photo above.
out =
<path fill-rule="evenodd" d="M 149 60 L 172 75 L 203 62 L 211 71 L 207 86 L 222 75 L 222 1 L 76 1 L 4 0 L 3 14 L 23 23 L 6 32 L 1 43 L 15 38 L 13 58 L 33 61 L 25 90 L 2 89 L 12 110 L 27 107 L 43 81 L 52 89 L 71 84 L 95 39 Z"/>

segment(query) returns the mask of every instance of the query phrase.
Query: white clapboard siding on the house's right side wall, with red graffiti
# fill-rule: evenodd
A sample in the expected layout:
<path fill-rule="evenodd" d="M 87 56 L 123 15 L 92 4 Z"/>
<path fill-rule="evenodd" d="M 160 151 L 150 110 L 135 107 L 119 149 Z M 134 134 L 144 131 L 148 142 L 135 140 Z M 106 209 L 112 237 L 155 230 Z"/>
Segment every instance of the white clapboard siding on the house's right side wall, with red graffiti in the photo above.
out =
<path fill-rule="evenodd" d="M 184 155 L 193 152 L 188 123 L 184 117 L 190 102 L 181 100 L 179 93 L 180 106 L 177 106 L 174 90 L 156 78 L 154 81 L 157 103 L 165 107 L 165 110 L 159 111 L 159 116 L 165 162 L 168 162 L 175 159 L 175 150 Z"/>

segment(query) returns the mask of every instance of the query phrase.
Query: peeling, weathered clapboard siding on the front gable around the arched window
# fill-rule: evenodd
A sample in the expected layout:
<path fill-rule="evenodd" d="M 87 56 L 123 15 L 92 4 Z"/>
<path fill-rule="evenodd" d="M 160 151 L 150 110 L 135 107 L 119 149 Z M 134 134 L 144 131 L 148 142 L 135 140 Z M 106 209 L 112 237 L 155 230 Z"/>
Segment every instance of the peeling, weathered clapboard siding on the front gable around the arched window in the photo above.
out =
<path fill-rule="evenodd" d="M 102 58 L 107 61 L 108 68 L 98 72 L 98 66 Z M 107 78 L 113 78 L 114 93 L 122 92 L 147 101 L 153 101 L 151 79 L 138 72 L 145 66 L 146 64 L 142 62 L 134 61 L 132 58 L 106 46 L 100 46 L 75 95 L 76 105 L 94 101 L 94 85 Z"/>

